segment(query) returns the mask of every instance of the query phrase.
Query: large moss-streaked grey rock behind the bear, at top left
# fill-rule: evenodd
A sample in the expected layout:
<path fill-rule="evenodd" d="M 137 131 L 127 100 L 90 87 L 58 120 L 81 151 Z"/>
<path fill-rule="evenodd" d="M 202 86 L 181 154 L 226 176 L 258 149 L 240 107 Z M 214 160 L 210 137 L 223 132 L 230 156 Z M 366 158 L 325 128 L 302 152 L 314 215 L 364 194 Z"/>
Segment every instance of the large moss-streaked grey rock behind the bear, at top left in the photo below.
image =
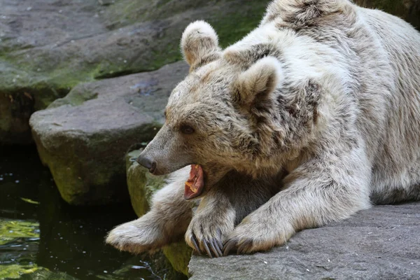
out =
<path fill-rule="evenodd" d="M 258 25 L 267 3 L 2 1 L 0 144 L 29 143 L 31 113 L 78 83 L 152 71 L 181 59 L 179 40 L 189 22 L 209 20 L 228 45 Z"/>

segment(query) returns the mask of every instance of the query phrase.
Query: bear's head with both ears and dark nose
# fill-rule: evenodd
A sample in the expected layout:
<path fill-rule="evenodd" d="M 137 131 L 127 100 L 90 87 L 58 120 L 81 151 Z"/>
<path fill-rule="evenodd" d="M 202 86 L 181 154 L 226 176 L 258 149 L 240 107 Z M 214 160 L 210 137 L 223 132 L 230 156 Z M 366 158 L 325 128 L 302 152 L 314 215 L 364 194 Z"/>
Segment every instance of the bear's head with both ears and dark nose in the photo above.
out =
<path fill-rule="evenodd" d="M 297 135 L 272 112 L 283 81 L 279 59 L 272 52 L 255 56 L 260 50 L 223 51 L 203 21 L 186 28 L 181 49 L 190 73 L 170 95 L 165 125 L 138 162 L 155 175 L 199 165 L 206 188 L 232 170 L 254 177 L 279 172 L 278 159 L 293 146 L 286 136 Z"/>

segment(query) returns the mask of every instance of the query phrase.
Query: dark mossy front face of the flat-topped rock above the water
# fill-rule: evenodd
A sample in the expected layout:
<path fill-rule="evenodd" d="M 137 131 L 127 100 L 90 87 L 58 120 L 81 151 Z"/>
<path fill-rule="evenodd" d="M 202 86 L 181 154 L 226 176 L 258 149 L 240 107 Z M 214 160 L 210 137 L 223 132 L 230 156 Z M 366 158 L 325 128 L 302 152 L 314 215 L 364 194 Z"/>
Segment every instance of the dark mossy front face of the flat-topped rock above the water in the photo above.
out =
<path fill-rule="evenodd" d="M 95 169 L 94 166 L 97 164 L 89 159 L 88 154 L 86 154 L 87 158 L 74 156 L 81 154 L 77 151 L 79 148 L 86 150 L 87 144 L 83 143 L 83 140 L 67 146 L 59 145 L 57 146 L 59 150 L 52 152 L 45 151 L 36 134 L 34 134 L 34 140 L 37 143 L 38 154 L 44 165 L 50 168 L 64 201 L 73 205 L 101 205 L 127 199 L 125 188 L 115 188 L 125 181 L 125 170 L 118 164 L 118 159 L 113 159 L 117 161 L 115 165 L 110 165 L 113 169 Z M 55 139 L 55 141 L 60 143 L 65 140 Z M 95 142 L 89 142 L 89 145 L 94 146 Z M 94 170 L 93 174 L 90 173 L 92 170 Z"/>

